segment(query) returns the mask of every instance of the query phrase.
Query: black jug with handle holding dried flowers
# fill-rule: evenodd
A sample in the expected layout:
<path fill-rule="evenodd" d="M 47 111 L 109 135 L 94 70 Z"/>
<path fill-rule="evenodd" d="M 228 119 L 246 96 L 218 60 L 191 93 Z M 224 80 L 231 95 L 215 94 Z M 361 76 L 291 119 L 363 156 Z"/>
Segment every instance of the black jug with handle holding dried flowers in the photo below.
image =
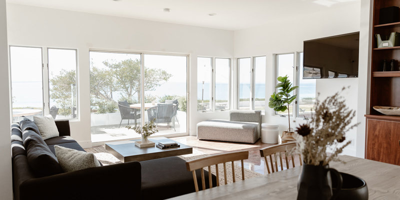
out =
<path fill-rule="evenodd" d="M 297 182 L 297 200 L 335 199 L 337 193 L 333 195 L 331 175 L 335 176 L 337 191 L 341 189 L 341 175 L 329 165 L 303 164 Z"/>

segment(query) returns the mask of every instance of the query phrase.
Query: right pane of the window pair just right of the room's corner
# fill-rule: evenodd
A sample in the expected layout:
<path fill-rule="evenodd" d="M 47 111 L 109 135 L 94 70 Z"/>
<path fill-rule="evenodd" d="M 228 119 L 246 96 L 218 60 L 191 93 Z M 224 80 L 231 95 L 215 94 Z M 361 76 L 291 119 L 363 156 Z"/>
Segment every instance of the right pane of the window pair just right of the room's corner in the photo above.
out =
<path fill-rule="evenodd" d="M 254 57 L 254 109 L 265 110 L 266 56 Z"/>

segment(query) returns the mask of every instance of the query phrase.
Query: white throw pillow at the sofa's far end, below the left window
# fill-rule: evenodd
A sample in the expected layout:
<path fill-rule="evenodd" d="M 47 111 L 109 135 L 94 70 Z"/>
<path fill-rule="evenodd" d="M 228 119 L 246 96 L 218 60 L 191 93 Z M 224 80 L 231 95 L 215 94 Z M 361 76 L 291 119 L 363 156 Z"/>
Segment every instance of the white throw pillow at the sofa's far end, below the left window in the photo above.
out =
<path fill-rule="evenodd" d="M 33 122 L 39 128 L 41 137 L 48 139 L 51 137 L 57 137 L 59 135 L 57 126 L 51 114 L 47 116 L 33 116 Z"/>

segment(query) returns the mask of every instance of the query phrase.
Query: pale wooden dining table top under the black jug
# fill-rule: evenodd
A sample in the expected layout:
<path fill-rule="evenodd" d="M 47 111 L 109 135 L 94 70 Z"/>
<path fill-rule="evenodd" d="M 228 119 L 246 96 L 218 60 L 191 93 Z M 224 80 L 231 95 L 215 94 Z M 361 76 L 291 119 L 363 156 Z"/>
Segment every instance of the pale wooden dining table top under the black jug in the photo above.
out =
<path fill-rule="evenodd" d="M 349 155 L 329 167 L 365 180 L 369 199 L 400 199 L 400 166 Z M 301 166 L 200 190 L 171 199 L 296 199 Z"/>

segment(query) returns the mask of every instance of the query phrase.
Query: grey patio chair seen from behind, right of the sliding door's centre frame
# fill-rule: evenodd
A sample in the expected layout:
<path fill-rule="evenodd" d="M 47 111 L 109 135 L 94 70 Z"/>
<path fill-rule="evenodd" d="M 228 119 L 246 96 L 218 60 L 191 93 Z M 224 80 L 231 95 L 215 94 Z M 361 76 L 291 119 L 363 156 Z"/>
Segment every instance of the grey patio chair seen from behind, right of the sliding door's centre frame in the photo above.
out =
<path fill-rule="evenodd" d="M 175 120 L 173 118 L 175 109 L 176 105 L 172 103 L 158 103 L 157 106 L 147 109 L 148 120 L 153 120 L 156 126 L 158 123 L 167 123 L 167 127 L 172 122 L 173 130 L 175 130 Z"/>

